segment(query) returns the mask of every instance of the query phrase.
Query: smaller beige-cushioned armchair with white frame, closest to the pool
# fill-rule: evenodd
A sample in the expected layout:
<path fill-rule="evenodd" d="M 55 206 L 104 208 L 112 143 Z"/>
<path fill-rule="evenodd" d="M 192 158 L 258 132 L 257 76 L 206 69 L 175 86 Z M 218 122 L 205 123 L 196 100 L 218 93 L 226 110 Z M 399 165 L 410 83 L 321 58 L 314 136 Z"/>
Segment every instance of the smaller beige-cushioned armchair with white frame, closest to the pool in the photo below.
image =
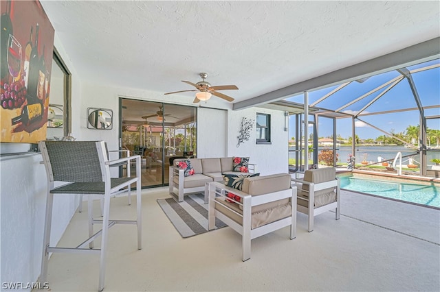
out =
<path fill-rule="evenodd" d="M 326 167 L 305 171 L 303 180 L 292 178 L 298 188 L 298 212 L 309 217 L 307 230 L 314 230 L 314 216 L 336 209 L 340 218 L 340 180 L 336 169 Z"/>

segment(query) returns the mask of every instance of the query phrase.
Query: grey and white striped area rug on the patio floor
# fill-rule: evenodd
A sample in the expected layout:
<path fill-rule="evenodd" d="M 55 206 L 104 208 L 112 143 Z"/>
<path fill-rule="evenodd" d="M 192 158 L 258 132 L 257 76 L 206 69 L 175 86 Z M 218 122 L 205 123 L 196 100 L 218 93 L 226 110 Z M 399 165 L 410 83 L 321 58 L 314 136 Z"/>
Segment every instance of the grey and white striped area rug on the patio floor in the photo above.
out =
<path fill-rule="evenodd" d="M 172 197 L 157 199 L 157 203 L 183 238 L 208 232 L 208 204 L 204 204 L 203 193 L 186 195 L 181 203 Z M 216 228 L 225 226 L 223 221 L 215 219 Z"/>

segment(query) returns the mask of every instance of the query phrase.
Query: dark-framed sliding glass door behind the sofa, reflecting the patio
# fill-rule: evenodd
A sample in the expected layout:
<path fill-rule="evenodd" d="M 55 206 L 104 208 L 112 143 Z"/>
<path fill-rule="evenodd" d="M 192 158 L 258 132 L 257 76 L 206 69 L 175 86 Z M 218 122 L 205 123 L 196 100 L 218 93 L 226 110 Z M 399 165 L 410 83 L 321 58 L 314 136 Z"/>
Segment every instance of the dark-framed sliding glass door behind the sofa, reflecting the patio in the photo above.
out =
<path fill-rule="evenodd" d="M 142 156 L 142 187 L 167 185 L 170 158 L 197 155 L 197 108 L 126 98 L 120 107 L 122 149 Z"/>

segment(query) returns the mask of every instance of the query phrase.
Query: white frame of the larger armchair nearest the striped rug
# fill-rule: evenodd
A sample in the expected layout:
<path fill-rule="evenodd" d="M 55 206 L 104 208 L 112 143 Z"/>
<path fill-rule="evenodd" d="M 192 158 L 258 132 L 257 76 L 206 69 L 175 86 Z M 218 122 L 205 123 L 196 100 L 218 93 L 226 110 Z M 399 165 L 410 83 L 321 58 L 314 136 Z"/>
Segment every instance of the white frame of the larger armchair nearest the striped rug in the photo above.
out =
<path fill-rule="evenodd" d="M 208 229 L 215 229 L 215 218 L 219 218 L 221 221 L 226 223 L 230 228 L 241 234 L 241 245 L 243 252 L 243 262 L 245 260 L 250 259 L 250 245 L 251 240 L 256 237 L 268 234 L 275 230 L 284 228 L 286 226 L 290 226 L 290 239 L 296 238 L 296 186 L 292 186 L 284 191 L 277 191 L 274 193 L 267 193 L 264 195 L 249 195 L 248 193 L 244 193 L 242 191 L 237 190 L 236 188 L 231 188 L 229 186 L 225 186 L 220 182 L 210 182 L 207 187 L 207 191 L 209 192 L 209 215 L 208 215 Z M 221 202 L 215 200 L 216 196 L 225 197 L 225 192 L 234 193 L 234 195 L 239 195 L 241 197 L 241 202 L 236 202 L 243 206 L 243 215 L 239 212 L 236 212 L 229 208 L 226 204 L 222 204 Z M 251 221 L 252 221 L 252 207 L 258 206 L 265 203 L 270 203 L 277 201 L 279 199 L 290 198 L 290 202 L 292 204 L 292 216 L 286 217 L 284 219 L 280 219 L 274 221 L 272 223 L 267 223 L 263 226 L 251 229 Z M 224 215 L 219 210 L 215 209 L 215 204 L 221 204 L 224 208 L 234 212 L 236 215 L 239 215 L 243 218 L 243 225 L 237 223 L 230 217 Z"/>

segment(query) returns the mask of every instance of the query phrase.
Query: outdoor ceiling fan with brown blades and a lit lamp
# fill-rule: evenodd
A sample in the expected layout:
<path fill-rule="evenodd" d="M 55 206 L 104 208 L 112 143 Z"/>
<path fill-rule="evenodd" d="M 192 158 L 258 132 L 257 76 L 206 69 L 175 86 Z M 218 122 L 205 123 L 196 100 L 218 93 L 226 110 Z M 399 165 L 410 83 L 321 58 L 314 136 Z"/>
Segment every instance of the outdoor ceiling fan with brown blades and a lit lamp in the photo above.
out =
<path fill-rule="evenodd" d="M 208 77 L 208 74 L 200 73 L 199 75 L 200 75 L 202 81 L 199 81 L 196 84 L 189 82 L 189 81 L 181 80 L 181 82 L 185 82 L 187 84 L 190 84 L 197 89 L 180 90 L 180 91 L 174 91 L 173 93 L 185 93 L 188 91 L 197 91 L 197 93 L 195 95 L 195 99 L 193 101 L 195 104 L 199 101 L 202 101 L 202 100 L 206 101 L 206 100 L 210 99 L 211 95 L 215 95 L 216 97 L 220 97 L 220 98 L 225 99 L 227 101 L 234 101 L 234 99 L 232 97 L 229 97 L 228 95 L 223 95 L 223 93 L 217 93 L 216 90 L 232 90 L 232 89 L 236 90 L 236 89 L 239 89 L 238 87 L 236 87 L 235 85 L 211 86 L 211 84 L 209 82 L 205 81 L 205 78 Z M 165 95 L 170 95 L 173 93 L 165 93 Z"/>

